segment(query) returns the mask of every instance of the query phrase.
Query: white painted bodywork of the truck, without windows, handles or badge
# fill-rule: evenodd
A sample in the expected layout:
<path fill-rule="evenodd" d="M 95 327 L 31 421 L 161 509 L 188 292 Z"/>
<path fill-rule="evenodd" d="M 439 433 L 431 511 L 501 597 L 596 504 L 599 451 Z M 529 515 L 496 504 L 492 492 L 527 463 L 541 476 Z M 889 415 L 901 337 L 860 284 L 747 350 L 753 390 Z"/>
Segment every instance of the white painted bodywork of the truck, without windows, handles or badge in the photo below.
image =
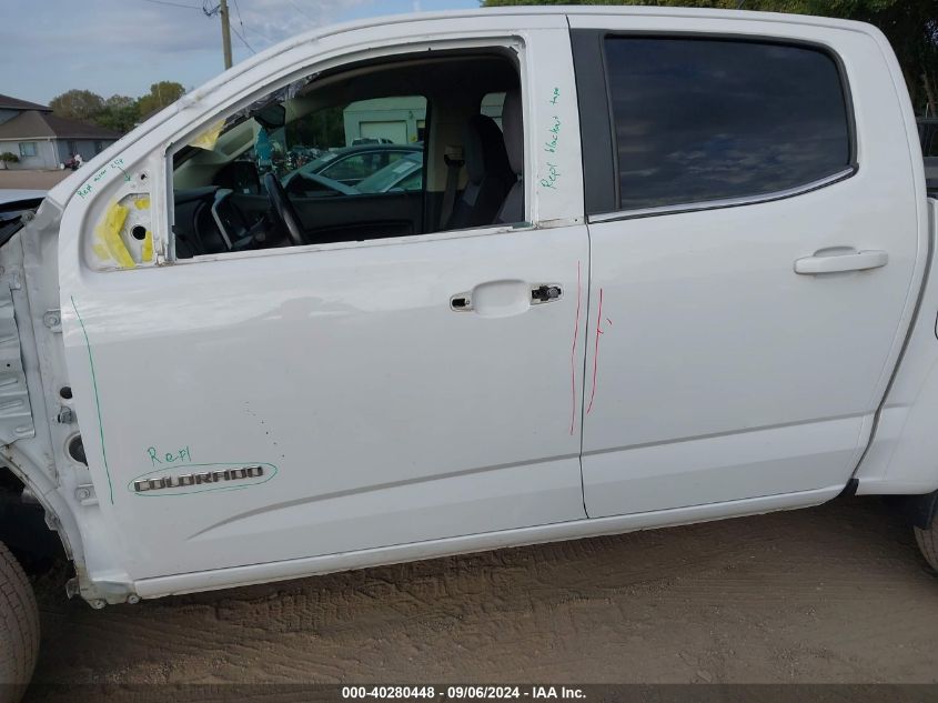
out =
<path fill-rule="evenodd" d="M 584 9 L 569 22 L 830 43 L 851 81 L 859 172 L 774 203 L 587 231 L 563 12 L 362 23 L 236 67 L 82 169 L 99 180 L 50 192 L 51 219 L 37 231 L 58 227 L 57 262 L 53 240 L 27 248 L 33 281 L 58 263 L 68 365 L 42 328 L 51 305 L 34 302 L 34 358 L 49 386 L 37 399 L 44 392 L 52 406 L 54 389 L 71 384 L 89 458 L 87 471 L 64 460 L 69 430 L 53 426 L 44 455 L 58 473 L 34 483 L 47 504 L 71 511 L 62 523 L 83 586 L 157 596 L 795 508 L 843 488 L 905 341 L 928 248 L 911 113 L 881 36 L 826 19 L 652 8 Z M 92 265 L 94 223 L 113 200 L 142 192 L 165 263 L 165 154 L 220 114 L 321 68 L 493 46 L 518 51 L 529 227 Z M 884 251 L 888 263 L 795 273 L 796 260 L 829 247 Z M 563 298 L 524 304 L 537 284 L 562 287 Z M 54 285 L 34 288 L 39 301 Z M 450 309 L 464 292 L 478 310 Z M 880 418 L 894 449 L 911 446 L 906 416 L 915 436 L 929 432 L 915 389 L 935 340 L 919 330 L 918 375 L 900 372 L 901 398 Z M 909 471 L 885 460 L 861 468 L 861 486 L 927 490 L 934 463 L 915 459 Z M 163 465 L 202 463 L 276 472 L 231 491 L 128 489 Z M 80 504 L 88 482 L 97 502 Z"/>

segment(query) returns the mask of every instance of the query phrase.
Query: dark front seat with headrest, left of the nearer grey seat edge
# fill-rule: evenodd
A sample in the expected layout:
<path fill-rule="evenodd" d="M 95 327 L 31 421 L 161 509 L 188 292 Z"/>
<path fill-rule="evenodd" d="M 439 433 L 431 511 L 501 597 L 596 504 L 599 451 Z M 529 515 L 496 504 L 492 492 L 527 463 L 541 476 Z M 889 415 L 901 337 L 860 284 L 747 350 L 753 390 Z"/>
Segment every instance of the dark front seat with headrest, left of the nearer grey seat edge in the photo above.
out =
<path fill-rule="evenodd" d="M 474 114 L 463 132 L 468 184 L 453 205 L 447 230 L 493 224 L 517 180 L 508 163 L 502 130 L 491 117 Z"/>

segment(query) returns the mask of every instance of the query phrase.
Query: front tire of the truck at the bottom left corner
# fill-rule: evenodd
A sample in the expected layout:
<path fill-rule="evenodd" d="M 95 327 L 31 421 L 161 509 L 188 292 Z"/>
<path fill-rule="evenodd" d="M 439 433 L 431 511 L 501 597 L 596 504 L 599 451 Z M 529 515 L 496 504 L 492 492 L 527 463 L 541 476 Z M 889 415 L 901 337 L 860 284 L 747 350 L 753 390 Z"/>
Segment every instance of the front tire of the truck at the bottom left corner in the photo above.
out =
<path fill-rule="evenodd" d="M 39 606 L 16 558 L 0 542 L 0 703 L 26 692 L 39 654 Z"/>

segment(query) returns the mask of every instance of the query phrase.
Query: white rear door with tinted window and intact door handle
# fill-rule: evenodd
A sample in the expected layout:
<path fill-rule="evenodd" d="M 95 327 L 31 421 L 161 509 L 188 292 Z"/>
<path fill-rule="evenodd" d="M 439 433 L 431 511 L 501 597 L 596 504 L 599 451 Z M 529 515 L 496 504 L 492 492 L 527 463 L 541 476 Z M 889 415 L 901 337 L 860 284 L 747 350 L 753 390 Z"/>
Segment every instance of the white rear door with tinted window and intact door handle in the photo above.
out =
<path fill-rule="evenodd" d="M 927 251 L 890 64 L 870 36 L 809 24 L 572 23 L 589 516 L 830 495 Z"/>

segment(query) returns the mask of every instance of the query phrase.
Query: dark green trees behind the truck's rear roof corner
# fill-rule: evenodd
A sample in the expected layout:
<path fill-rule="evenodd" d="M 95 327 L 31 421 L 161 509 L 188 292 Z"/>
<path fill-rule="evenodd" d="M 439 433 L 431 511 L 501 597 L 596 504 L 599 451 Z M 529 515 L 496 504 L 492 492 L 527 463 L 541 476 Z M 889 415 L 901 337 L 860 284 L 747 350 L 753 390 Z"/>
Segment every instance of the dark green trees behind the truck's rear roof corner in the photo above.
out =
<path fill-rule="evenodd" d="M 859 20 L 889 38 L 916 108 L 938 114 L 938 3 L 936 0 L 482 0 L 508 4 L 643 4 L 795 12 Z"/>

